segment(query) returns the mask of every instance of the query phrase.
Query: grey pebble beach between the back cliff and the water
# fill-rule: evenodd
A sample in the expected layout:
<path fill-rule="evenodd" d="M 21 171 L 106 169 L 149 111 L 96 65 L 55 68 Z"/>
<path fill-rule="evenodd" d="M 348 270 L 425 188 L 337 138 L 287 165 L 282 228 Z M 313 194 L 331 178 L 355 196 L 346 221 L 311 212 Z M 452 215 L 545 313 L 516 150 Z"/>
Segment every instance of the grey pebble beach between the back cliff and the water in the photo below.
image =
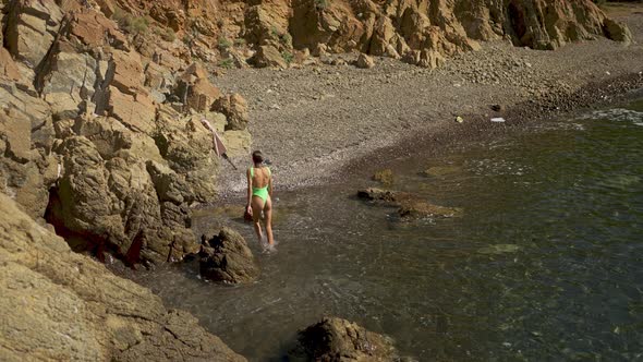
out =
<path fill-rule="evenodd" d="M 492 41 L 435 70 L 377 58 L 367 70 L 245 69 L 214 82 L 246 97 L 252 147 L 274 161 L 276 191 L 292 191 L 366 174 L 399 155 L 435 153 L 622 100 L 643 88 L 643 13 L 619 17 L 632 31 L 629 46 L 596 39 L 538 51 Z M 348 63 L 354 55 L 336 57 Z M 489 122 L 494 117 L 507 122 Z M 248 165 L 244 156 L 232 158 L 240 170 Z M 242 196 L 243 171 L 223 162 L 217 188 L 217 202 Z"/>

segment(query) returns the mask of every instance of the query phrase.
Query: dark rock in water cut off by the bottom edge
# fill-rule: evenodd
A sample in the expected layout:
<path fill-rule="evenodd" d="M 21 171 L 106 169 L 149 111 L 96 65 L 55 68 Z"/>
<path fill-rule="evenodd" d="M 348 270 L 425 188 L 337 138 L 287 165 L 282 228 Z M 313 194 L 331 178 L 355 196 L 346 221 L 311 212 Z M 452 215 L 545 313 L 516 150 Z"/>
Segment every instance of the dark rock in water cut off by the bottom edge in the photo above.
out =
<path fill-rule="evenodd" d="M 310 361 L 398 361 L 389 337 L 366 330 L 355 323 L 325 317 L 299 333 L 300 347 L 293 354 Z"/>

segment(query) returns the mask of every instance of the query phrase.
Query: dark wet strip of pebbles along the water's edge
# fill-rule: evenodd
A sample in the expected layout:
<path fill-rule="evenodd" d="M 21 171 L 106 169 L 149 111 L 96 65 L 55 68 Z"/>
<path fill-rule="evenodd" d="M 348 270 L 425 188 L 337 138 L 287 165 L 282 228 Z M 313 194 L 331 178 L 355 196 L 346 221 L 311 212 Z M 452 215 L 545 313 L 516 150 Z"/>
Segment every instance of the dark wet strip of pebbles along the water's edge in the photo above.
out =
<path fill-rule="evenodd" d="M 511 135 L 512 132 L 525 131 L 543 122 L 573 118 L 584 111 L 624 105 L 639 98 L 643 98 L 643 74 L 630 73 L 589 83 L 574 93 L 554 99 L 515 104 L 501 114 L 492 110 L 489 113 L 496 114 L 462 114 L 465 120 L 463 123 L 457 123 L 453 120 L 432 124 L 426 129 L 400 132 L 390 144 L 366 150 L 352 158 L 344 158 L 345 154 L 355 152 L 351 149 L 340 149 L 337 152 L 339 155 L 325 155 L 323 158 L 326 159 L 323 162 L 330 164 L 332 173 L 307 182 L 279 184 L 276 190 L 292 192 L 328 182 L 338 183 L 345 178 L 369 179 L 377 169 L 389 167 L 398 160 L 412 156 L 439 155 L 451 150 L 457 143 L 465 142 L 473 145 L 477 142 Z M 493 123 L 492 117 L 502 117 L 506 122 Z M 238 200 L 243 196 L 243 192 L 244 190 L 223 190 L 216 203 Z M 199 205 L 196 208 L 211 207 L 216 203 Z"/>

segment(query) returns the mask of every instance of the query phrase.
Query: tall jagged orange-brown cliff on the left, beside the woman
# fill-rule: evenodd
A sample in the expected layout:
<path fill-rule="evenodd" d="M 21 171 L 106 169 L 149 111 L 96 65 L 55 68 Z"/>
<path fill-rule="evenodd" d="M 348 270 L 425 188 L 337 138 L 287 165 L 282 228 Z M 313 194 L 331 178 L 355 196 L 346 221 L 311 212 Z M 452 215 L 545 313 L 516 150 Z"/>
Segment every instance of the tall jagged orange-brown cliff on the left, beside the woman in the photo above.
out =
<path fill-rule="evenodd" d="M 0 191 L 98 256 L 198 250 L 190 205 L 214 200 L 218 168 L 199 120 L 247 153 L 245 100 L 210 111 L 222 95 L 208 73 L 169 41 L 149 51 L 154 33 L 134 27 L 151 25 L 121 2 L 3 1 L 0 21 Z"/>

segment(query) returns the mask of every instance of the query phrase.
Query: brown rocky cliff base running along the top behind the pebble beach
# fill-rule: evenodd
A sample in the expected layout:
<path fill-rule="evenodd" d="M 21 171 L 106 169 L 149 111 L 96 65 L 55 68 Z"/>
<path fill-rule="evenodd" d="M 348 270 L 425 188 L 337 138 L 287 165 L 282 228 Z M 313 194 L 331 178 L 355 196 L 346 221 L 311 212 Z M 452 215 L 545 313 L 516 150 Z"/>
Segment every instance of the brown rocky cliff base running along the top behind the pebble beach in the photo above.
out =
<path fill-rule="evenodd" d="M 320 53 L 318 49 L 360 51 L 438 67 L 453 55 L 477 49 L 480 41 L 502 37 L 517 46 L 537 49 L 556 49 L 597 36 L 618 41 L 631 38 L 622 24 L 607 19 L 592 0 L 198 0 L 190 4 L 174 0 L 100 0 L 97 4 L 107 16 L 116 16 L 116 9 L 132 14 L 130 20 L 148 15 L 169 29 L 170 38 L 185 39 L 181 49 L 167 47 L 184 60 L 197 57 L 214 62 L 250 50 L 246 58 L 252 57 L 256 67 L 287 68 L 283 55 L 294 53 L 293 49 L 308 49 L 315 55 Z M 52 12 L 50 17 L 49 27 L 38 27 L 45 45 L 60 28 L 54 25 L 61 22 L 60 12 Z M 128 27 L 126 21 L 120 23 Z M 153 32 L 136 34 L 151 37 L 147 33 Z M 239 39 L 243 40 L 234 41 Z M 157 44 L 147 39 L 136 47 L 141 52 L 154 52 L 151 45 Z M 32 58 L 38 58 L 47 47 L 34 44 L 29 48 L 35 48 L 29 49 Z M 241 67 L 245 61 L 233 63 Z"/>

